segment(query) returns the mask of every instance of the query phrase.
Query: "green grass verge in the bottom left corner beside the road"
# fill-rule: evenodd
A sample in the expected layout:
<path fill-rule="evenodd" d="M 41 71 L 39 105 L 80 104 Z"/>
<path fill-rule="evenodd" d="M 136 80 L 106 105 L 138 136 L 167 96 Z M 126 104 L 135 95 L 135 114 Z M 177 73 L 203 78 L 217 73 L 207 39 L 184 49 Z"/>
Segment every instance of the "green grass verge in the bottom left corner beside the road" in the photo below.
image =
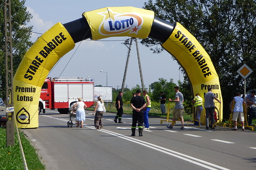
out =
<path fill-rule="evenodd" d="M 24 133 L 20 133 L 20 138 L 28 169 L 45 170 L 45 166 L 41 163 L 37 151 L 25 137 Z M 15 132 L 14 146 L 6 147 L 6 129 L 3 128 L 0 128 L 0 170 L 24 170 L 17 133 Z"/>

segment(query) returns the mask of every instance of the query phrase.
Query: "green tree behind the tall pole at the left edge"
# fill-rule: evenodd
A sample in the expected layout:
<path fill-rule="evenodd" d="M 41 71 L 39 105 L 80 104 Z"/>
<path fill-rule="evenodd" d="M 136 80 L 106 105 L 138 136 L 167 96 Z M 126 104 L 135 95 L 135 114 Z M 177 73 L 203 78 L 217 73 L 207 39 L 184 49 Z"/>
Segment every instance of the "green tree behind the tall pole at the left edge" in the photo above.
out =
<path fill-rule="evenodd" d="M 0 96 L 5 96 L 5 38 L 4 38 L 4 2 L 0 0 Z M 11 0 L 12 56 L 13 74 L 15 74 L 23 56 L 32 46 L 30 41 L 32 27 L 26 27 L 32 19 L 27 12 L 25 0 Z"/>

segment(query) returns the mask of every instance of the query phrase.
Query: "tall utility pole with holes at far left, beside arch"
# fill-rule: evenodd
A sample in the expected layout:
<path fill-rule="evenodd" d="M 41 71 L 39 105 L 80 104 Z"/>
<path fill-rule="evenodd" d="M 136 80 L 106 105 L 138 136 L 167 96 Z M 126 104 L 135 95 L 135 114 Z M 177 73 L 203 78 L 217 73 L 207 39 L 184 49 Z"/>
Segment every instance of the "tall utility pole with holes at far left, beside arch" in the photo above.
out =
<path fill-rule="evenodd" d="M 7 112 L 13 107 L 13 67 L 12 67 L 12 27 L 11 0 L 4 0 L 5 29 L 5 80 L 6 80 L 6 147 L 14 145 L 14 112 Z M 10 96 L 9 96 L 10 94 Z"/>

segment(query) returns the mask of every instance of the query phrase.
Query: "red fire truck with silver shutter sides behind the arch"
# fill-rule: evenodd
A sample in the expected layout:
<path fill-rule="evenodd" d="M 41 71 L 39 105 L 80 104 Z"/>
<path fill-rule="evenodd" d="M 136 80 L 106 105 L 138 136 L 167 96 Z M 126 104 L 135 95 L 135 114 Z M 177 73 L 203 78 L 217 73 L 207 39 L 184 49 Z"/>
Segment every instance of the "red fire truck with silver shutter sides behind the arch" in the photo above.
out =
<path fill-rule="evenodd" d="M 80 77 L 48 77 L 41 89 L 38 110 L 58 109 L 59 113 L 68 113 L 69 107 L 82 97 L 90 107 L 94 104 L 94 80 Z"/>

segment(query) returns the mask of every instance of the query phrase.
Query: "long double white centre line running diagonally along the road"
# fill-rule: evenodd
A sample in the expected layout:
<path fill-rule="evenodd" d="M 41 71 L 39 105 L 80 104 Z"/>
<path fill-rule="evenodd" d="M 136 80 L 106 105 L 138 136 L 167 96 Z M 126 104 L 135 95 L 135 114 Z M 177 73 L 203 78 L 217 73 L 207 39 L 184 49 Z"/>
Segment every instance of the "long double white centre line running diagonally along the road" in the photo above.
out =
<path fill-rule="evenodd" d="M 56 117 L 46 116 L 46 115 L 42 115 L 42 116 L 50 117 L 50 118 L 54 118 L 54 119 L 59 119 L 59 120 L 62 120 L 62 121 L 67 121 L 67 120 L 62 119 L 62 118 L 56 118 Z M 86 124 L 84 124 L 84 127 L 85 127 L 85 128 L 90 128 L 90 129 L 95 129 L 94 126 L 90 126 L 90 125 L 86 125 Z M 176 152 L 176 151 L 174 151 L 174 150 L 170 150 L 170 149 L 167 149 L 167 148 L 158 146 L 158 145 L 153 144 L 153 143 L 140 141 L 140 140 L 137 140 L 137 139 L 135 139 L 135 138 L 128 137 L 128 136 L 125 136 L 125 135 L 122 135 L 122 134 L 118 134 L 118 133 L 115 133 L 115 132 L 112 132 L 112 131 L 108 131 L 108 130 L 105 130 L 105 129 L 100 129 L 100 130 L 98 130 L 98 131 L 99 131 L 99 132 L 103 132 L 103 133 L 107 133 L 107 134 L 110 134 L 110 135 L 113 135 L 113 136 L 116 136 L 116 137 L 118 137 L 118 138 L 121 138 L 121 139 L 130 141 L 130 142 L 134 142 L 134 143 L 143 145 L 143 146 L 145 146 L 145 147 L 149 147 L 149 148 L 151 148 L 151 149 L 160 151 L 160 152 L 165 153 L 165 154 L 167 154 L 167 155 L 174 156 L 174 157 L 176 157 L 176 158 L 182 159 L 182 160 L 184 160 L 184 161 L 190 162 L 190 163 L 192 163 L 192 164 L 195 164 L 195 165 L 197 165 L 197 166 L 201 166 L 201 167 L 206 168 L 206 169 L 209 169 L 209 170 L 217 170 L 216 168 L 221 169 L 221 170 L 229 170 L 229 169 L 227 169 L 227 168 L 224 168 L 224 167 L 221 167 L 221 166 L 212 164 L 212 163 L 210 163 L 210 162 L 206 162 L 206 161 L 203 161 L 203 160 L 194 158 L 194 157 L 189 156 L 189 155 L 185 155 L 185 154 L 183 154 L 183 153 Z M 166 131 L 168 131 L 168 130 L 166 130 Z"/>

